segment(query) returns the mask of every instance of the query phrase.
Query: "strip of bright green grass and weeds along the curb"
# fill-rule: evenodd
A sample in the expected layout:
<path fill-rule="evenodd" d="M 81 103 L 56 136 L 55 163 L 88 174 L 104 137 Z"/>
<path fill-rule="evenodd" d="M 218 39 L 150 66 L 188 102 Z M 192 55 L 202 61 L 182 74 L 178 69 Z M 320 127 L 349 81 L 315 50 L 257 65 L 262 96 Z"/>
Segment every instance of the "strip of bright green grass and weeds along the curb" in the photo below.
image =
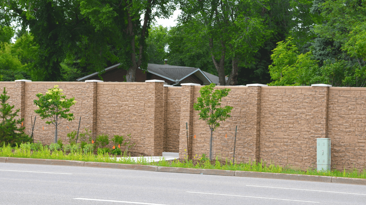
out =
<path fill-rule="evenodd" d="M 259 171 L 269 173 L 285 173 L 285 174 L 305 174 L 305 175 L 321 175 L 332 177 L 350 177 L 350 178 L 366 178 L 366 170 L 358 171 L 356 169 L 351 171 L 339 170 L 320 171 L 308 169 L 306 171 L 295 170 L 291 168 L 283 168 L 277 165 L 266 165 L 262 161 L 259 163 L 232 163 L 228 160 L 208 160 L 205 155 L 198 157 L 197 160 L 175 159 L 172 161 L 161 160 L 159 162 L 149 162 L 148 159 L 139 157 L 135 162 L 132 158 L 124 156 L 117 160 L 116 157 L 111 157 L 107 154 L 94 155 L 92 153 L 83 153 L 82 150 L 65 154 L 61 150 L 51 151 L 48 146 L 40 146 L 37 150 L 31 150 L 30 146 L 0 147 L 1 157 L 17 157 L 17 158 L 37 158 L 37 159 L 61 159 L 61 160 L 78 160 L 84 162 L 109 162 L 109 163 L 123 163 L 123 164 L 139 164 L 139 165 L 155 165 L 165 167 L 185 167 L 196 169 L 219 169 L 219 170 L 240 170 L 240 171 Z"/>

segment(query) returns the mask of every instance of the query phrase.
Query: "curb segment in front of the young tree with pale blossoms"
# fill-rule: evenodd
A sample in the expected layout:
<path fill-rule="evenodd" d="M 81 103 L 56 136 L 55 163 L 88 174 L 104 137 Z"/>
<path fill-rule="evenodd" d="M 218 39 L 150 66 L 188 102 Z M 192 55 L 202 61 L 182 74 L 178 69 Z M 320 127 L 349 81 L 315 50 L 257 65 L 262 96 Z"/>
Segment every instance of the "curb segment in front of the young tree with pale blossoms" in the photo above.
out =
<path fill-rule="evenodd" d="M 63 165 L 63 166 L 84 166 L 85 162 L 60 159 L 31 159 L 8 157 L 6 163 L 36 164 L 36 165 Z"/>

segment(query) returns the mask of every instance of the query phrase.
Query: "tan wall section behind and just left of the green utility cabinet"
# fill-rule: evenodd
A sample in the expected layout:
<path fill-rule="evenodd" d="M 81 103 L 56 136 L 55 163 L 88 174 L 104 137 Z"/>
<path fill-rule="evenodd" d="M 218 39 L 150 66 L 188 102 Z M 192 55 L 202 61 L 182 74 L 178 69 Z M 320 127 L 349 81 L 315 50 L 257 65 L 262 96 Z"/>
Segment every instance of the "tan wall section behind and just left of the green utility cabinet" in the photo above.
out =
<path fill-rule="evenodd" d="M 328 87 L 261 88 L 259 156 L 300 169 L 316 167 L 316 138 L 326 136 Z"/>

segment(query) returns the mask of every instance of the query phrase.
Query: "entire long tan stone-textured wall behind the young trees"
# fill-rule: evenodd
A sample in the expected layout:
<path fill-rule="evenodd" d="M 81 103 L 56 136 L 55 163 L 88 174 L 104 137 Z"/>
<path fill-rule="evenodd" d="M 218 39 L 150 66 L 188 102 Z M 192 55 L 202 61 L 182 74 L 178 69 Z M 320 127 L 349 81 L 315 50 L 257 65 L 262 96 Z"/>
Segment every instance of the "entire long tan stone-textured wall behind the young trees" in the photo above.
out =
<path fill-rule="evenodd" d="M 77 130 L 81 116 L 81 131 L 88 128 L 94 137 L 131 134 L 136 143 L 133 151 L 151 155 L 179 152 L 182 158 L 209 154 L 209 127 L 193 109 L 202 86 L 164 87 L 162 81 L 0 82 L 0 88 L 7 88 L 8 103 L 25 118 L 27 134 L 31 135 L 30 120 L 36 116 L 36 94 L 54 85 L 78 101 L 71 109 L 75 120 L 59 127 L 63 142 L 68 132 Z M 216 86 L 220 88 L 231 89 L 222 105 L 234 108 L 231 117 L 213 133 L 213 158 L 232 160 L 237 126 L 237 162 L 264 160 L 314 168 L 316 139 L 328 137 L 333 168 L 365 168 L 366 88 Z M 35 141 L 50 144 L 53 138 L 54 126 L 37 116 Z"/>

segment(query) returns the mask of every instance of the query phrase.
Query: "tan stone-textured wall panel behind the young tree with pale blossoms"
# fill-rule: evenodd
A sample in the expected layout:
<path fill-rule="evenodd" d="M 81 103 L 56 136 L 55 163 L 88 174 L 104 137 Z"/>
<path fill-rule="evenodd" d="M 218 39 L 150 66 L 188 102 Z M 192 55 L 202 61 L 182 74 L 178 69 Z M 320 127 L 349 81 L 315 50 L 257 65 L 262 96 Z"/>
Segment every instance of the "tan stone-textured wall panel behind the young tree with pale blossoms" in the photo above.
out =
<path fill-rule="evenodd" d="M 40 141 L 45 144 L 51 144 L 54 142 L 55 125 L 46 124 L 46 119 L 42 120 L 34 110 L 37 109 L 33 104 L 33 100 L 38 99 L 37 93 L 45 94 L 49 88 L 53 88 L 54 85 L 59 85 L 58 88 L 63 89 L 63 93 L 67 98 L 75 97 L 75 105 L 71 107 L 72 113 L 74 113 L 75 120 L 63 121 L 57 127 L 58 140 L 62 140 L 64 143 L 68 143 L 67 133 L 78 130 L 79 119 L 80 133 L 84 132 L 84 128 L 93 130 L 93 90 L 90 88 L 93 83 L 86 82 L 25 82 L 25 132 L 31 135 L 31 124 L 36 117 L 36 123 L 34 125 L 34 142 Z M 32 123 L 31 123 L 31 120 Z"/>

